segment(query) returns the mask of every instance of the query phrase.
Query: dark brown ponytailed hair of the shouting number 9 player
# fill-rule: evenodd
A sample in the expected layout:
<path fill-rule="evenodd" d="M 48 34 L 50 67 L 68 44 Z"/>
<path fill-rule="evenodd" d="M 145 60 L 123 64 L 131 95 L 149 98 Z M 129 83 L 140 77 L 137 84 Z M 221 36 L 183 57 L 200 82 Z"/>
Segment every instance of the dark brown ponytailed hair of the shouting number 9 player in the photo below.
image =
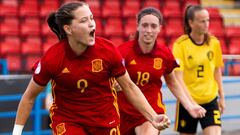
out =
<path fill-rule="evenodd" d="M 75 18 L 72 12 L 83 5 L 88 6 L 88 4 L 79 1 L 65 3 L 56 12 L 52 12 L 48 16 L 48 26 L 57 35 L 59 40 L 67 38 L 63 26 L 71 24 L 72 19 Z"/>

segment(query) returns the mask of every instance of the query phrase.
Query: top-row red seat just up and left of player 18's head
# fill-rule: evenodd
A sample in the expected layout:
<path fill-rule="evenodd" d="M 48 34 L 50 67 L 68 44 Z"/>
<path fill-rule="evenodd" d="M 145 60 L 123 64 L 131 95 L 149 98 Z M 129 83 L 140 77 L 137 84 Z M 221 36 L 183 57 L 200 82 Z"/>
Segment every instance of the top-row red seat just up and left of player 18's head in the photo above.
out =
<path fill-rule="evenodd" d="M 125 1 L 122 8 L 122 15 L 124 18 L 135 17 L 140 10 L 140 2 L 138 0 Z"/>

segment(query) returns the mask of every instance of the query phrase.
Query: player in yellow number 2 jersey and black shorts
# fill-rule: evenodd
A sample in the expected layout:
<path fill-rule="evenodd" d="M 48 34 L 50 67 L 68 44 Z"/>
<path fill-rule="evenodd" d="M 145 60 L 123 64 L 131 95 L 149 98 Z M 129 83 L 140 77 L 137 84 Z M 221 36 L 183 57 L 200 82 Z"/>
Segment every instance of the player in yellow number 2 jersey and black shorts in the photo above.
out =
<path fill-rule="evenodd" d="M 208 33 L 208 27 L 208 11 L 198 5 L 188 6 L 184 17 L 185 35 L 173 45 L 173 54 L 180 65 L 175 68 L 177 79 L 207 110 L 204 118 L 194 119 L 178 103 L 175 129 L 181 135 L 194 135 L 199 121 L 204 135 L 221 134 L 221 113 L 225 108 L 221 74 L 223 60 L 220 43 Z"/>

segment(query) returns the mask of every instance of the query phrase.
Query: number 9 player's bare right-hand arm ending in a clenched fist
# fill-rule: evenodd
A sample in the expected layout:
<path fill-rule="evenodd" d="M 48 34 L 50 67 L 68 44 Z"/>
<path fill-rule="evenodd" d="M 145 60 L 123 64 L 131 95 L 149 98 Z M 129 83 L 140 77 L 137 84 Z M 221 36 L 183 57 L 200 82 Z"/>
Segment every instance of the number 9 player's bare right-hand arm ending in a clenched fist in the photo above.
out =
<path fill-rule="evenodd" d="M 129 102 L 141 112 L 152 125 L 159 129 L 168 128 L 170 120 L 165 114 L 157 114 L 148 103 L 141 90 L 132 82 L 128 73 L 116 78 Z"/>

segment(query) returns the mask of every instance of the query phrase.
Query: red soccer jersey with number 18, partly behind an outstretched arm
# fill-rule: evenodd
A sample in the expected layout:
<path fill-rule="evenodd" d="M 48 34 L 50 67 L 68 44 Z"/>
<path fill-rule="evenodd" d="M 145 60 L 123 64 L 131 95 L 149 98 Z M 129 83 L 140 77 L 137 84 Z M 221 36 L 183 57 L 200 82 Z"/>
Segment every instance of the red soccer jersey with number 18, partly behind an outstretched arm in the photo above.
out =
<path fill-rule="evenodd" d="M 141 89 L 157 113 L 165 113 L 162 103 L 161 76 L 169 74 L 178 66 L 169 48 L 155 44 L 151 53 L 143 54 L 136 40 L 119 46 L 125 67 L 135 84 Z M 118 94 L 121 111 L 134 116 L 141 114 L 130 104 L 122 92 Z"/>

